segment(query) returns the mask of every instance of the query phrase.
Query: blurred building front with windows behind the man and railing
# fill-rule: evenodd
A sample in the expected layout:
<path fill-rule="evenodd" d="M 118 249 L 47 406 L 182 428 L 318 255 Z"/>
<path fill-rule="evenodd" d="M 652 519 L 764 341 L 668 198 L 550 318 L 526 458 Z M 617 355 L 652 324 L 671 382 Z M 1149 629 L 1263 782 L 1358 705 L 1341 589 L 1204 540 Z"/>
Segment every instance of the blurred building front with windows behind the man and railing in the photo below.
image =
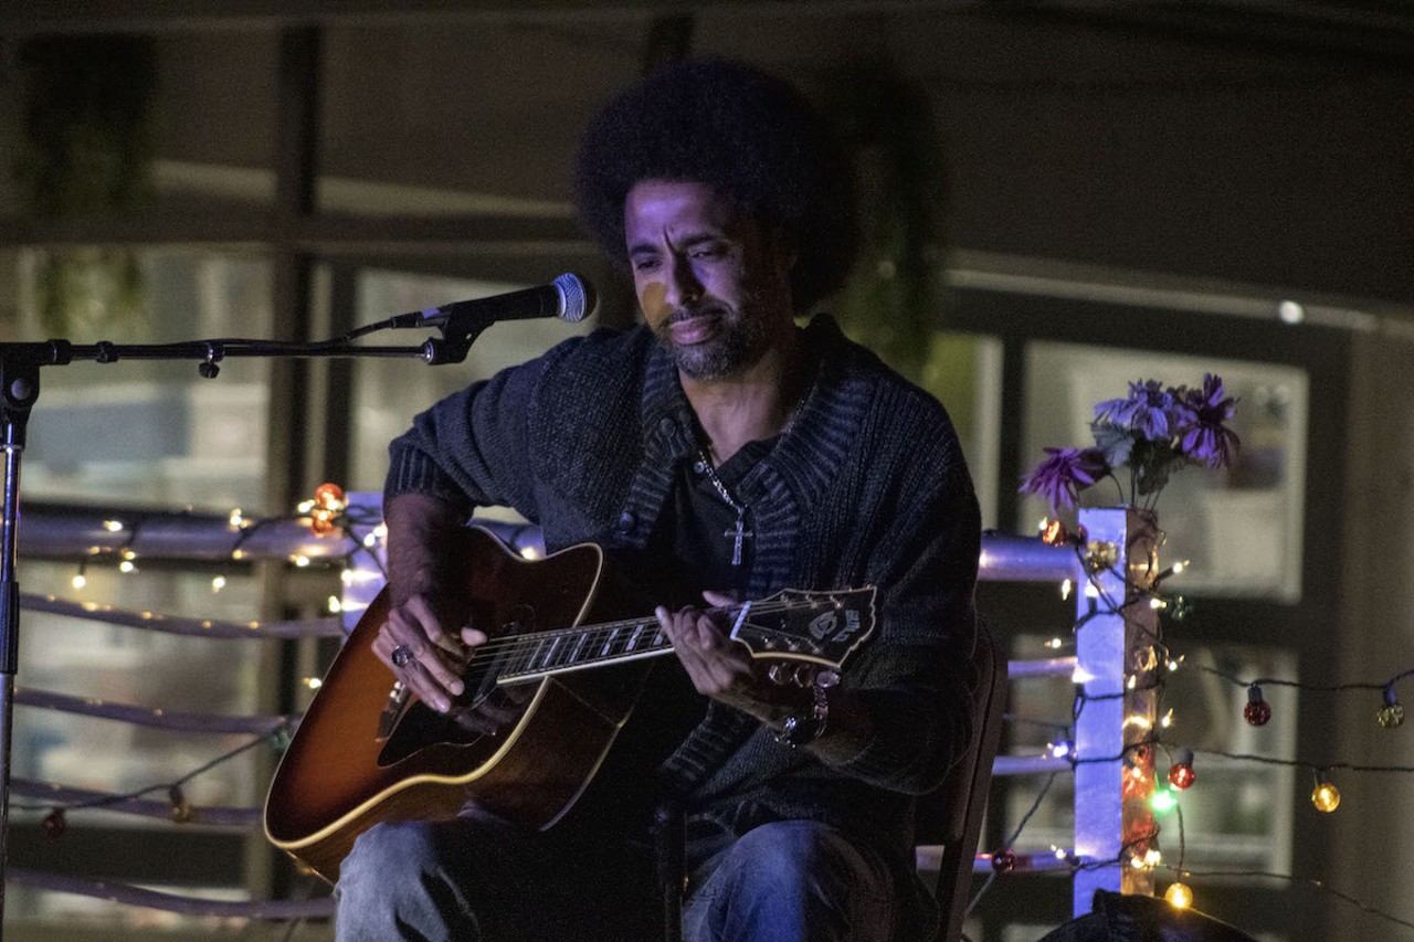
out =
<path fill-rule="evenodd" d="M 387 440 L 441 395 L 571 330 L 632 322 L 625 277 L 575 223 L 570 167 L 602 100 L 691 54 L 795 81 L 854 147 L 865 249 L 830 310 L 947 405 L 986 526 L 1035 532 L 1045 508 L 1017 485 L 1044 446 L 1089 444 L 1096 402 L 1141 378 L 1220 373 L 1240 397 L 1243 450 L 1232 468 L 1179 475 L 1159 504 L 1165 559 L 1191 563 L 1178 588 L 1192 612 L 1168 641 L 1189 661 L 1304 686 L 1270 692 L 1274 720 L 1253 730 L 1246 690 L 1175 680 L 1176 721 L 1220 751 L 1414 765 L 1414 733 L 1374 721 L 1377 693 L 1314 689 L 1414 666 L 1406 4 L 7 0 L 0 342 L 318 339 L 564 270 L 601 294 L 578 328 L 496 325 L 460 365 L 45 369 L 25 499 L 287 515 L 321 481 L 378 491 Z M 35 560 L 21 578 L 222 618 L 315 612 L 338 591 L 262 567 L 221 593 L 209 571 L 89 573 L 82 593 L 72 574 Z M 1052 588 L 983 594 L 1015 656 L 1066 635 L 1069 603 Z M 329 653 L 61 622 L 27 618 L 21 685 L 256 713 L 298 706 L 301 678 Z M 1058 682 L 1014 710 L 1066 716 L 1070 693 Z M 1045 738 L 1007 735 L 1021 751 Z M 124 791 L 208 751 L 21 709 L 13 764 Z M 228 762 L 192 799 L 256 805 L 271 761 Z M 1414 842 L 1410 772 L 1342 775 L 1335 815 L 1311 806 L 1298 768 L 1215 760 L 1199 774 L 1184 805 L 1198 908 L 1270 942 L 1414 939 L 1397 863 Z M 998 781 L 984 849 L 1035 793 Z M 1063 840 L 1069 799 L 1048 796 L 1031 843 Z M 321 892 L 259 835 L 95 812 L 51 840 L 41 819 L 13 815 L 16 866 L 212 898 Z M 1069 901 L 1065 877 L 1014 874 L 970 935 L 1036 939 Z M 6 925 L 21 939 L 328 935 L 28 888 L 11 890 Z"/>

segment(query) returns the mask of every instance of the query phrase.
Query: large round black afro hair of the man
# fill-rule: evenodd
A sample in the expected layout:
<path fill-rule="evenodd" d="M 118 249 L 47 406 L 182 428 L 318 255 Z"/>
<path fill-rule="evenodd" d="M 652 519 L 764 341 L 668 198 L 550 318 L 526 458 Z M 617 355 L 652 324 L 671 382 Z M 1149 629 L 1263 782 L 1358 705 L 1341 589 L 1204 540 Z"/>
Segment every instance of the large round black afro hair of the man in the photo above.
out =
<path fill-rule="evenodd" d="M 796 249 L 797 313 L 848 277 L 858 238 L 848 158 L 823 116 L 775 76 L 728 59 L 686 59 L 629 86 L 590 122 L 575 202 L 625 267 L 624 202 L 642 180 L 706 184 L 779 226 Z"/>

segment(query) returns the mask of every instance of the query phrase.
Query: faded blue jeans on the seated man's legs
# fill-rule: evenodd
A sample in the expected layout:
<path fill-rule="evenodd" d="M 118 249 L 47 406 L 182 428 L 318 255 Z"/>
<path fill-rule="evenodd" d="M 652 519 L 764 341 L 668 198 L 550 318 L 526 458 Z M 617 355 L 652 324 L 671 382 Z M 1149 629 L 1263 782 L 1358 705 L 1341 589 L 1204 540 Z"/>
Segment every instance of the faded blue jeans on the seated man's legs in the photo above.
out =
<path fill-rule="evenodd" d="M 814 822 L 691 840 L 686 942 L 894 942 L 878 854 Z M 344 861 L 339 942 L 658 942 L 652 856 L 485 813 L 378 825 Z"/>

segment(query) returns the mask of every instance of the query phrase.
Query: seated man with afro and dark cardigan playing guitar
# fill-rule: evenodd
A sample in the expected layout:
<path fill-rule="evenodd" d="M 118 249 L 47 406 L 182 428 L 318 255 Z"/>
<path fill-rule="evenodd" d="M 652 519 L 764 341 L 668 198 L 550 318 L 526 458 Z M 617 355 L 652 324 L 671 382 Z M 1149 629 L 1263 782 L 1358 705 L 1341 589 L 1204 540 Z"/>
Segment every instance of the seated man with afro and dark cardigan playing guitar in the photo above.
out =
<path fill-rule="evenodd" d="M 477 383 L 393 443 L 373 648 L 431 707 L 488 733 L 513 719 L 458 700 L 486 636 L 462 628 L 444 552 L 472 508 L 509 505 L 549 549 L 597 542 L 676 597 L 658 608 L 676 659 L 547 830 L 468 808 L 365 833 L 341 939 L 662 938 L 663 799 L 686 815 L 687 939 L 932 931 L 912 795 L 967 738 L 977 506 L 936 400 L 827 317 L 796 327 L 853 255 L 846 167 L 792 88 L 730 62 L 669 66 L 591 123 L 581 215 L 646 324 Z M 874 636 L 833 685 L 772 680 L 706 608 L 870 584 Z"/>

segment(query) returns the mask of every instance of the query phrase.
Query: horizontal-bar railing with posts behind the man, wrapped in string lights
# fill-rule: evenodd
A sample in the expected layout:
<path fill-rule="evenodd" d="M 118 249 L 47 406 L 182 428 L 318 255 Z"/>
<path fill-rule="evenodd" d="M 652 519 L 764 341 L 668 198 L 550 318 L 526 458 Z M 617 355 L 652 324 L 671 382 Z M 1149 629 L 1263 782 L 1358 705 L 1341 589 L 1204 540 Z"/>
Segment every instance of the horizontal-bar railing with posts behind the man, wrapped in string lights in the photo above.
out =
<path fill-rule="evenodd" d="M 215 622 L 151 611 L 124 611 L 107 605 L 72 603 L 42 595 L 23 595 L 25 612 L 49 612 L 86 618 L 117 627 L 168 631 L 205 638 L 270 638 L 338 636 L 358 620 L 362 607 L 376 594 L 382 576 L 375 562 L 378 547 L 378 498 L 352 495 L 349 519 L 355 523 L 346 532 L 315 537 L 307 523 L 293 519 L 249 521 L 235 515 L 59 508 L 35 505 L 25 508 L 20 529 L 23 559 L 122 560 L 137 557 L 146 562 L 201 563 L 214 560 L 287 560 L 303 564 L 310 560 L 352 560 L 344 577 L 342 615 L 281 622 Z M 994 775 L 1021 777 L 1070 774 L 1076 777 L 1076 833 L 1073 854 L 1058 860 L 1053 853 L 1029 854 L 1029 868 L 1070 867 L 1075 870 L 1075 912 L 1087 912 L 1096 888 L 1126 892 L 1151 892 L 1147 871 L 1126 866 L 1076 867 L 1077 863 L 1121 863 L 1135 846 L 1134 835 L 1152 830 L 1152 818 L 1145 818 L 1143 802 L 1134 789 L 1124 786 L 1124 775 L 1143 768 L 1147 761 L 1148 781 L 1152 781 L 1152 757 L 1130 748 L 1141 735 L 1141 727 L 1154 721 L 1154 704 L 1145 702 L 1143 689 L 1133 678 L 1145 665 L 1134 663 L 1134 651 L 1143 648 L 1138 635 L 1152 631 L 1152 618 L 1143 608 L 1126 605 L 1135 578 L 1145 573 L 1152 577 L 1152 530 L 1133 512 L 1086 511 L 1082 523 L 1087 539 L 1079 545 L 1049 546 L 1039 539 L 986 535 L 980 559 L 980 577 L 990 581 L 1070 581 L 1076 587 L 1077 622 L 1076 656 L 1014 661 L 1008 676 L 1014 683 L 1029 678 L 1068 676 L 1075 679 L 1085 697 L 1085 709 L 1075 723 L 1073 751 L 1065 755 L 1001 755 L 994 764 Z M 534 532 L 529 528 L 493 525 L 518 549 L 534 546 Z M 1147 535 L 1147 536 L 1145 536 Z M 366 552 L 365 552 L 366 550 Z M 21 571 L 21 581 L 24 573 Z M 342 624 L 341 624 L 342 620 Z M 23 642 L 21 642 L 23 644 Z M 1147 665 L 1152 669 L 1152 665 Z M 23 678 L 21 678 L 23 683 Z M 1134 689 L 1134 687 L 1138 689 Z M 158 726 L 184 733 L 229 734 L 279 733 L 296 721 L 291 716 L 218 717 L 204 714 L 174 714 L 137 704 L 92 702 L 65 697 L 40 690 L 23 690 L 17 703 L 27 707 L 62 710 L 106 720 Z M 93 803 L 99 792 L 75 789 L 62 784 L 16 781 L 14 792 L 37 801 L 65 803 Z M 115 796 L 117 798 L 117 796 Z M 161 801 L 126 799 L 106 805 L 109 810 L 171 816 L 170 803 Z M 201 809 L 205 825 L 229 829 L 257 827 L 257 808 Z M 987 856 L 978 857 L 977 868 L 990 868 Z M 154 907 L 197 915 L 249 915 L 252 918 L 310 918 L 327 917 L 332 911 L 329 900 L 308 901 L 250 901 L 229 902 L 154 892 L 126 887 L 113 881 L 85 881 L 25 870 L 10 870 L 11 881 L 21 885 L 49 888 L 103 897 L 119 902 Z"/>

